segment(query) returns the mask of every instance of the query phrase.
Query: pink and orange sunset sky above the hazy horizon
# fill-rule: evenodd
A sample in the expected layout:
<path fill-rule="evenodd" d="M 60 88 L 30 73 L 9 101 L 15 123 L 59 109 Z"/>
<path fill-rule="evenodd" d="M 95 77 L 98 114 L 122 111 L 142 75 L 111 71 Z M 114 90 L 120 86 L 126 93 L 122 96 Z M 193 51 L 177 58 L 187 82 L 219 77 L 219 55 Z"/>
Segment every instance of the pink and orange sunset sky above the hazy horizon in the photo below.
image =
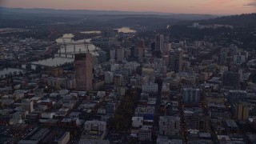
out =
<path fill-rule="evenodd" d="M 256 0 L 2 0 L 2 7 L 56 10 L 120 10 L 178 14 L 246 14 L 256 11 Z"/>

